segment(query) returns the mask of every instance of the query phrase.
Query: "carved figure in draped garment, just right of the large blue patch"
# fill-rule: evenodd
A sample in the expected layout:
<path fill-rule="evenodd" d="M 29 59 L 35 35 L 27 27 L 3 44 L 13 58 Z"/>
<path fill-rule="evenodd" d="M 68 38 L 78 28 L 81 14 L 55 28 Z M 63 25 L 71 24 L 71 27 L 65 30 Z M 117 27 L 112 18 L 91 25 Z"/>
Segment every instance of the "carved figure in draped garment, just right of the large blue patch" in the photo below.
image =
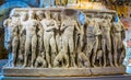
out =
<path fill-rule="evenodd" d="M 102 34 L 102 31 L 98 26 L 98 23 L 94 19 L 91 19 L 86 27 L 86 50 L 85 52 L 86 52 L 86 56 L 90 59 L 92 57 L 91 64 L 93 67 L 96 67 L 95 60 L 96 60 L 96 53 L 98 49 L 98 35 L 100 34 Z"/>

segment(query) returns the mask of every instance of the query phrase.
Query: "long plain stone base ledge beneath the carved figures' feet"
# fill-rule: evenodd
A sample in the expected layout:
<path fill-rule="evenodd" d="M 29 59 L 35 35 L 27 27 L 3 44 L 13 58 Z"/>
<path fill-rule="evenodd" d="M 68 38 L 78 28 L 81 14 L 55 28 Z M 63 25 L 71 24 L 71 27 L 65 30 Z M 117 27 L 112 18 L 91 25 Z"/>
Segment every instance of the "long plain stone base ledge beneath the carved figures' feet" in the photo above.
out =
<path fill-rule="evenodd" d="M 126 67 L 103 68 L 3 68 L 5 77 L 91 77 L 123 75 Z"/>

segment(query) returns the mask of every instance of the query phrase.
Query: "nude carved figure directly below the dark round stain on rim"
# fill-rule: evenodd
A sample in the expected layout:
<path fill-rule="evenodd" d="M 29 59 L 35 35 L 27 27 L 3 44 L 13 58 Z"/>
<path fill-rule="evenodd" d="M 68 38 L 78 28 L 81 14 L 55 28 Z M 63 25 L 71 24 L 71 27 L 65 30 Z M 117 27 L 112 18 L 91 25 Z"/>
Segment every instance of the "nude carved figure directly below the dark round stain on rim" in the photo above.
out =
<path fill-rule="evenodd" d="M 78 30 L 80 33 L 80 27 L 78 26 L 78 23 L 74 19 L 70 16 L 66 16 L 66 19 L 61 22 L 60 31 L 62 31 L 62 49 L 64 50 L 63 54 L 66 54 L 66 60 L 67 60 L 67 67 L 69 67 L 69 57 L 71 56 L 71 65 L 73 67 L 76 67 L 75 64 L 75 52 L 74 52 L 74 30 Z M 68 46 L 69 46 L 69 54 L 68 55 Z"/>

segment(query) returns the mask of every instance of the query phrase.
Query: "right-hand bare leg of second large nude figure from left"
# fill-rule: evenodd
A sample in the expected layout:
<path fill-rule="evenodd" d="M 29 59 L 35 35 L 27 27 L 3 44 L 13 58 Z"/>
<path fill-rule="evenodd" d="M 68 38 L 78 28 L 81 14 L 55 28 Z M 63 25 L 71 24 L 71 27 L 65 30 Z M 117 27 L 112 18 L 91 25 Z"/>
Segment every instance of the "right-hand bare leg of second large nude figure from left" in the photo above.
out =
<path fill-rule="evenodd" d="M 34 35 L 32 37 L 32 62 L 31 62 L 31 67 L 34 66 L 34 61 L 35 61 L 35 58 L 36 58 L 36 45 L 37 45 L 37 36 Z"/>

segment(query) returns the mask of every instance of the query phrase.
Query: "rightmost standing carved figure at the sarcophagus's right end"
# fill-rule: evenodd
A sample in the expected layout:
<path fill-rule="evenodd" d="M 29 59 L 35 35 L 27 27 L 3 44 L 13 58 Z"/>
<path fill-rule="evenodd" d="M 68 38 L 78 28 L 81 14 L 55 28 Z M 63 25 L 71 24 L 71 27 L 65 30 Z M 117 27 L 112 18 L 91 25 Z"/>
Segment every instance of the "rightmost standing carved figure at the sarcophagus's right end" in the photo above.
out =
<path fill-rule="evenodd" d="M 114 27 L 112 27 L 112 42 L 114 42 L 114 59 L 115 59 L 115 66 L 119 66 L 119 60 L 121 60 L 122 55 L 124 55 L 124 46 L 122 43 L 122 34 L 124 35 L 124 28 L 122 24 L 119 22 L 114 22 Z M 120 58 L 119 58 L 119 55 Z"/>

